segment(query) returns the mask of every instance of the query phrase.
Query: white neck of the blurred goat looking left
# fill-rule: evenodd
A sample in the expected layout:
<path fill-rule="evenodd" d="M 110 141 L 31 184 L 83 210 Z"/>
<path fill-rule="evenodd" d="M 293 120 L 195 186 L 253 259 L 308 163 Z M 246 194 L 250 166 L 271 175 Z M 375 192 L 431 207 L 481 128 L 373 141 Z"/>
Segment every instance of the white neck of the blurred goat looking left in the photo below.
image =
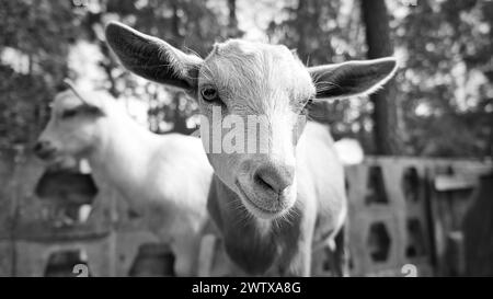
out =
<path fill-rule="evenodd" d="M 89 156 L 93 174 L 125 194 L 131 206 L 138 206 L 133 202 L 145 195 L 136 194 L 136 191 L 146 189 L 141 186 L 148 179 L 150 151 L 159 137 L 139 126 L 119 107 L 115 107 L 104 122 L 98 146 Z"/>

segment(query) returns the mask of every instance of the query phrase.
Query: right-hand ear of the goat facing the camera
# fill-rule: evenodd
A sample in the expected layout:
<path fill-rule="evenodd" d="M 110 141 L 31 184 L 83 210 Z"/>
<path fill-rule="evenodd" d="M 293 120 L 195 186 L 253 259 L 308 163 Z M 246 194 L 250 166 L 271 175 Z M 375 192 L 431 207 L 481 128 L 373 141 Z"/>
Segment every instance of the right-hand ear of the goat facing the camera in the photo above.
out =
<path fill-rule="evenodd" d="M 370 94 L 392 78 L 397 60 L 386 57 L 348 61 L 308 69 L 317 88 L 317 99 L 334 100 Z"/>

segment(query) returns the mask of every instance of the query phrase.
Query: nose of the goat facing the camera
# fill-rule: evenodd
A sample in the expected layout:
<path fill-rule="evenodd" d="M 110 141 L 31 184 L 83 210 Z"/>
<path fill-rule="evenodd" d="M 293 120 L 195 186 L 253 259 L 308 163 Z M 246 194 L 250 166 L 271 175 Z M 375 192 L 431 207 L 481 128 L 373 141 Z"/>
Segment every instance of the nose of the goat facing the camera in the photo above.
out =
<path fill-rule="evenodd" d="M 256 169 L 253 180 L 264 188 L 280 194 L 285 188 L 293 185 L 295 168 L 288 165 L 264 164 Z"/>

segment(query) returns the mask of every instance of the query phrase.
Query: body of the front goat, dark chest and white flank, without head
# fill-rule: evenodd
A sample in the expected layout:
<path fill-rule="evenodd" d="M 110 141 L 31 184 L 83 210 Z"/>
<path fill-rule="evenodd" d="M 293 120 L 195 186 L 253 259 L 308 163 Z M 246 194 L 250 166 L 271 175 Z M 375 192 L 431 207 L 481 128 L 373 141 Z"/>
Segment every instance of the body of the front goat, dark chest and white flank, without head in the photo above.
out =
<path fill-rule="evenodd" d="M 298 198 L 285 218 L 259 220 L 217 176 L 208 209 L 226 251 L 249 274 L 310 275 L 313 245 L 333 240 L 344 223 L 343 166 L 326 127 L 309 123 L 297 148 Z"/>

